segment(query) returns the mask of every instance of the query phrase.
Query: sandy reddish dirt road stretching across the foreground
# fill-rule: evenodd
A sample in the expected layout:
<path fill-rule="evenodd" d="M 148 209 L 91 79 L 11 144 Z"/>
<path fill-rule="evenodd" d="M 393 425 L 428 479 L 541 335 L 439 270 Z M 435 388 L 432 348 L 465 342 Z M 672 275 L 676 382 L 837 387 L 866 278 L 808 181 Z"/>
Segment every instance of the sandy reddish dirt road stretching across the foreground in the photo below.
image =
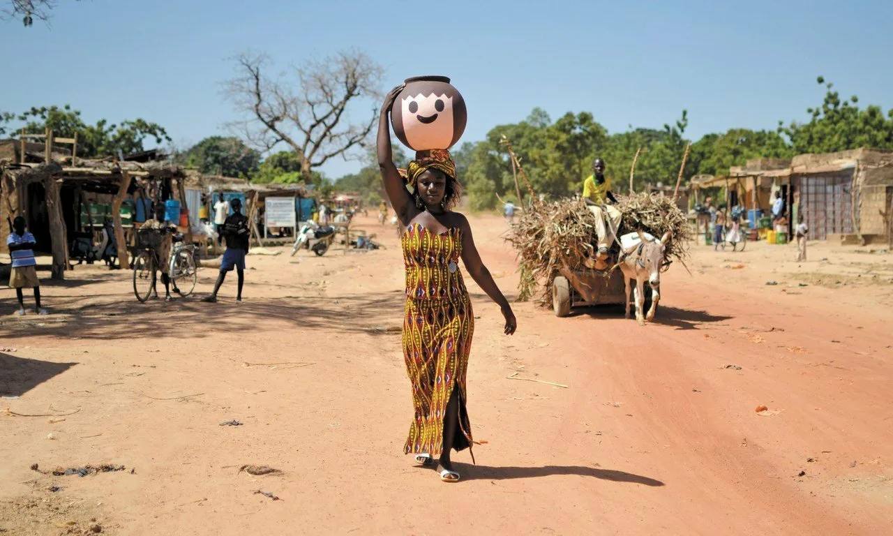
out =
<path fill-rule="evenodd" d="M 505 223 L 472 224 L 513 296 Z M 697 247 L 690 275 L 664 274 L 653 324 L 618 308 L 559 319 L 525 303 L 512 338 L 466 278 L 482 444 L 476 466 L 455 456 L 463 482 L 446 484 L 401 451 L 412 415 L 402 264 L 395 231 L 368 227 L 386 249 L 250 255 L 241 306 L 235 281 L 216 306 L 139 305 L 129 273 L 98 267 L 45 286 L 49 317 L 9 316 L 4 290 L 0 410 L 46 416 L 0 414 L 0 529 L 893 532 L 889 255 L 813 247 L 798 266 L 782 262 L 789 247 Z M 215 272 L 201 275 L 206 292 Z M 233 419 L 242 425 L 221 425 Z M 125 469 L 54 476 L 32 464 Z M 239 470 L 249 464 L 281 473 Z"/>

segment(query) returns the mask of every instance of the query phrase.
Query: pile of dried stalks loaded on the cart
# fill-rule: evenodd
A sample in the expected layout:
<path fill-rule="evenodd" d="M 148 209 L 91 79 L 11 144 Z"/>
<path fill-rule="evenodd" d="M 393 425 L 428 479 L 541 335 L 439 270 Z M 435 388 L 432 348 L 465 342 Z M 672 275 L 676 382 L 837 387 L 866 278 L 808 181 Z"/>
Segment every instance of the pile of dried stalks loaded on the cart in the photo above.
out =
<path fill-rule="evenodd" d="M 684 264 L 689 255 L 689 227 L 672 198 L 643 193 L 617 196 L 617 200 L 623 214 L 618 234 L 641 229 L 659 238 L 669 230 L 672 238 L 667 244 L 667 259 Z M 506 239 L 518 251 L 518 299 L 526 301 L 537 295 L 540 305 L 549 306 L 558 269 L 566 266 L 582 270 L 587 257 L 594 256 L 596 218 L 581 199 L 535 203 L 524 209 Z"/>

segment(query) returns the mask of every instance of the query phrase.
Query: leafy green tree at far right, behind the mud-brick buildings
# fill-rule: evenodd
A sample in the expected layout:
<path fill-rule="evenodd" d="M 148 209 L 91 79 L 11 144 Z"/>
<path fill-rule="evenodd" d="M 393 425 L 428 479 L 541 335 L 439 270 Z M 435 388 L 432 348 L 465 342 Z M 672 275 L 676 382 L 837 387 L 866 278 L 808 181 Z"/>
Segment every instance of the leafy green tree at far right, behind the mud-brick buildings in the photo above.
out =
<path fill-rule="evenodd" d="M 823 77 L 816 81 L 825 87 L 822 105 L 808 108 L 805 123 L 779 125 L 795 154 L 830 153 L 858 147 L 893 149 L 893 109 L 886 116 L 880 106 L 860 108 L 857 96 L 841 99 L 834 85 Z"/>

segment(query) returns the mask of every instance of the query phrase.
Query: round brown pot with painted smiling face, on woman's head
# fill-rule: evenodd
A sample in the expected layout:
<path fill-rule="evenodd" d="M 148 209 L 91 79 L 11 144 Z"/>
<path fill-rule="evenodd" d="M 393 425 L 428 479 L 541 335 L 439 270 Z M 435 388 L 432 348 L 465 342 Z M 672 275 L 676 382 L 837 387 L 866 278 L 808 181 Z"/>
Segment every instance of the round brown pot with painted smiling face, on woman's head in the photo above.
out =
<path fill-rule="evenodd" d="M 415 151 L 448 149 L 465 131 L 465 100 L 445 76 L 416 76 L 391 106 L 391 125 L 406 147 Z"/>

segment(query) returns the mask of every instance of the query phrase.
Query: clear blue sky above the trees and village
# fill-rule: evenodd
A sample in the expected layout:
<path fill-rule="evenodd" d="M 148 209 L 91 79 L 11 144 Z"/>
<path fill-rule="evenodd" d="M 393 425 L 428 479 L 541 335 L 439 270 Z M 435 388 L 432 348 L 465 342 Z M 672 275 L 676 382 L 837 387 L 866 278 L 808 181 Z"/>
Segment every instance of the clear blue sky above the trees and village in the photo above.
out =
<path fill-rule="evenodd" d="M 59 4 L 49 26 L 0 21 L 0 110 L 71 104 L 88 121 L 143 117 L 178 146 L 238 118 L 221 82 L 246 50 L 287 71 L 358 48 L 384 67 L 382 90 L 446 74 L 468 105 L 463 141 L 534 106 L 553 118 L 589 111 L 610 131 L 660 128 L 682 108 L 690 138 L 772 129 L 821 102 L 819 74 L 863 105 L 893 107 L 893 3 L 883 1 Z"/>

